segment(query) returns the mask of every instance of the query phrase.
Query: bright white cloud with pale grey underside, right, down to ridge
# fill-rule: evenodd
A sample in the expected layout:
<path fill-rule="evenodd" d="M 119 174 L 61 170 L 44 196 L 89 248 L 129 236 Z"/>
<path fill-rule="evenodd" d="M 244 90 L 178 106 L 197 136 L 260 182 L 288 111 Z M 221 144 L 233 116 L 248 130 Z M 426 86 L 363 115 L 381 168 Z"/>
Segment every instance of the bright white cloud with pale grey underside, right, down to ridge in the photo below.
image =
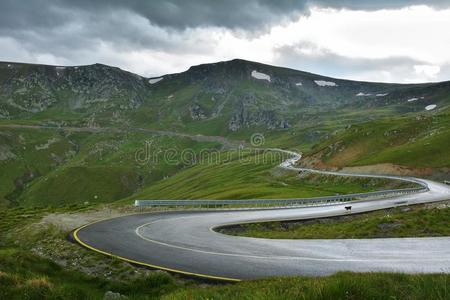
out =
<path fill-rule="evenodd" d="M 261 39 L 276 49 L 268 62 L 349 79 L 420 82 L 450 79 L 442 71 L 450 62 L 448 28 L 448 9 L 315 8 Z M 290 54 L 280 51 L 289 48 Z"/>

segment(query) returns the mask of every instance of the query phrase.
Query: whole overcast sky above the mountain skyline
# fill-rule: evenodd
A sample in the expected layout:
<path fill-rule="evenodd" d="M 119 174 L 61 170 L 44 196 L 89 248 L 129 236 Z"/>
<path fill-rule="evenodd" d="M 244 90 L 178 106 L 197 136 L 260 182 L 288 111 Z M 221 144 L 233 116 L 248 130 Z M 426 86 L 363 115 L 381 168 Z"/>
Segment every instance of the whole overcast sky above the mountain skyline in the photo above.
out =
<path fill-rule="evenodd" d="M 0 0 L 0 60 L 158 76 L 243 58 L 356 80 L 443 81 L 449 29 L 449 0 Z"/>

